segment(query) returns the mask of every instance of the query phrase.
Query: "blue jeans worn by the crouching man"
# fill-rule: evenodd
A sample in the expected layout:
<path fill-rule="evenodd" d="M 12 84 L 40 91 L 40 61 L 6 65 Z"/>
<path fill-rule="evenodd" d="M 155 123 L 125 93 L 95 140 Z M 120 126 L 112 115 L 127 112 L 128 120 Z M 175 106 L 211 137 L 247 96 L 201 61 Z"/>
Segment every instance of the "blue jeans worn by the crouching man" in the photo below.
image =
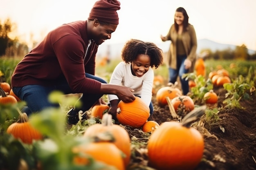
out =
<path fill-rule="evenodd" d="M 105 80 L 88 73 L 85 73 L 85 76 L 101 83 L 107 83 Z M 74 93 L 66 80 L 63 80 L 61 83 L 58 82 L 55 86 L 49 87 L 40 85 L 13 87 L 13 93 L 27 103 L 27 107 L 22 109 L 22 112 L 27 113 L 27 115 L 39 112 L 45 108 L 59 107 L 59 104 L 53 104 L 48 101 L 48 96 L 52 91 L 61 91 L 64 94 Z M 82 107 L 76 109 L 82 110 L 83 112 L 89 110 L 102 96 L 103 94 L 84 93 L 83 97 L 81 97 Z"/>

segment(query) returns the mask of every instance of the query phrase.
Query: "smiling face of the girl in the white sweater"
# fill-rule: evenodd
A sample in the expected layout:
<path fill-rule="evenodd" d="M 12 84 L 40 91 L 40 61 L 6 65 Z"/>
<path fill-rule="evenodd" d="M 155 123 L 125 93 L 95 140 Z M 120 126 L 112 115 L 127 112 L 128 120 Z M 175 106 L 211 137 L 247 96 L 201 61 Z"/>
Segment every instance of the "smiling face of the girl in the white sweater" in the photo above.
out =
<path fill-rule="evenodd" d="M 137 77 L 143 76 L 150 67 L 150 57 L 148 55 L 139 54 L 135 60 L 131 62 L 132 75 Z"/>

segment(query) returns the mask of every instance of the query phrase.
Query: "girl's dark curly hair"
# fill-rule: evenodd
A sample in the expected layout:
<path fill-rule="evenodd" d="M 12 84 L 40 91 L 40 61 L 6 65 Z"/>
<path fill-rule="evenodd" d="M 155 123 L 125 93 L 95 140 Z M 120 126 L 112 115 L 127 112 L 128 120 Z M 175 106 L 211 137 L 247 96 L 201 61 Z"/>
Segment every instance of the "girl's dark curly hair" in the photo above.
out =
<path fill-rule="evenodd" d="M 124 62 L 130 63 L 140 54 L 150 57 L 151 67 L 155 66 L 155 68 L 157 68 L 164 60 L 163 51 L 159 49 L 156 44 L 136 39 L 131 39 L 126 42 L 121 51 L 121 58 Z"/>

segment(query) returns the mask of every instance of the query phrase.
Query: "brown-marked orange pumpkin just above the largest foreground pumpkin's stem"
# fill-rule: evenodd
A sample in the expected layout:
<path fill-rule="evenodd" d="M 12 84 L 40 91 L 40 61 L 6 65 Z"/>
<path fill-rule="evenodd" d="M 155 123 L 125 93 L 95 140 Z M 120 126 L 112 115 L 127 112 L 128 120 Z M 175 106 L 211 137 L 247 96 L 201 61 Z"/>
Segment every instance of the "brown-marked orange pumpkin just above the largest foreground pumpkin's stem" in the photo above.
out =
<path fill-rule="evenodd" d="M 195 108 L 194 101 L 189 96 L 178 96 L 171 100 L 171 104 L 178 115 L 189 113 Z"/>

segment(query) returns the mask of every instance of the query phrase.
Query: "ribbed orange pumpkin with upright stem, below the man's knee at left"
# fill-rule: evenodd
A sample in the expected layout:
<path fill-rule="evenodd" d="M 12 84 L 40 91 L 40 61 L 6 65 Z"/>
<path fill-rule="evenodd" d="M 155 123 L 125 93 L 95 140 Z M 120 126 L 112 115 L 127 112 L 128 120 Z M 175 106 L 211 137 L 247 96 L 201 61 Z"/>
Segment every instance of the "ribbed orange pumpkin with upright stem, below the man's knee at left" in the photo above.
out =
<path fill-rule="evenodd" d="M 18 112 L 20 114 L 18 121 L 11 124 L 6 132 L 16 139 L 21 139 L 25 144 L 32 144 L 33 140 L 43 139 L 43 135 L 31 126 L 27 114 L 21 113 L 20 110 Z"/>

